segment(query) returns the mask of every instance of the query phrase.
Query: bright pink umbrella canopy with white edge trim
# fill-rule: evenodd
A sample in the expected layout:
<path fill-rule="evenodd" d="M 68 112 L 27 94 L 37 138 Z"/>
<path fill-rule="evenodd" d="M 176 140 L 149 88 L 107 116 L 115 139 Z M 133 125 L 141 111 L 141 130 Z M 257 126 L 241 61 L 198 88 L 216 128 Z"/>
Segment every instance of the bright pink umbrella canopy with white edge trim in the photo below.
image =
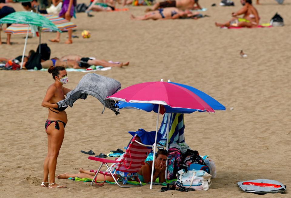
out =
<path fill-rule="evenodd" d="M 161 104 L 173 108 L 215 112 L 192 91 L 176 84 L 162 81 L 135 84 L 111 96 L 107 96 L 106 99 L 133 103 Z"/>

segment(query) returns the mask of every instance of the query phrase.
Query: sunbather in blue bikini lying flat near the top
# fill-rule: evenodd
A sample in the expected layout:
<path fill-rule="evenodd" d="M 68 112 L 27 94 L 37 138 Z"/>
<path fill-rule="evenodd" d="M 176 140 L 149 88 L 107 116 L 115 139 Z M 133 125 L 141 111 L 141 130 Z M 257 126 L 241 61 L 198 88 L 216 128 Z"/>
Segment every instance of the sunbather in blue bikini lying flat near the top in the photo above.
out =
<path fill-rule="evenodd" d="M 130 18 L 132 20 L 164 20 L 164 19 L 177 19 L 177 18 L 192 18 L 195 15 L 199 15 L 198 12 L 192 13 L 190 10 L 179 10 L 178 8 L 160 8 L 159 10 L 155 10 L 149 12 L 143 16 L 134 16 L 131 15 Z"/>

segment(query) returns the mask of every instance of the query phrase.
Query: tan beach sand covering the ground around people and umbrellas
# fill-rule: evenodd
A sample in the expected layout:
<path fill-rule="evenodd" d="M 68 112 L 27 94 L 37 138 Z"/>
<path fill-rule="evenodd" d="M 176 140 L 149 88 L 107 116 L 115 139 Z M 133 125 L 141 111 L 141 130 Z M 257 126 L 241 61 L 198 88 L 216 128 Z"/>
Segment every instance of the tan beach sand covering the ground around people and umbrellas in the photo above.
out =
<path fill-rule="evenodd" d="M 85 1 L 84 1 L 85 2 Z M 212 3 L 216 7 L 211 7 Z M 214 22 L 224 22 L 241 8 L 221 7 L 219 1 L 205 0 L 208 8 L 199 20 L 131 21 L 130 14 L 142 15 L 146 7 L 129 7 L 127 12 L 94 13 L 87 18 L 77 14 L 78 25 L 72 45 L 49 43 L 55 33 L 43 33 L 42 42 L 51 48 L 51 57 L 79 54 L 113 61 L 130 61 L 123 68 L 98 71 L 129 85 L 171 79 L 204 91 L 226 106 L 215 114 L 185 115 L 185 139 L 193 150 L 209 155 L 216 163 L 217 177 L 208 191 L 157 192 L 161 186 L 119 188 L 116 185 L 89 186 L 89 183 L 58 180 L 66 189 L 40 187 L 43 161 L 47 153 L 45 120 L 48 110 L 41 106 L 45 92 L 53 83 L 44 71 L 0 71 L 0 194 L 1 197 L 261 197 L 243 193 L 236 183 L 253 179 L 272 179 L 287 185 L 285 194 L 264 197 L 291 197 L 290 140 L 290 18 L 286 1 L 261 1 L 256 6 L 261 23 L 269 22 L 276 12 L 284 18 L 284 27 L 225 30 Z M 86 2 L 87 3 L 87 2 Z M 22 7 L 15 5 L 20 11 Z M 91 38 L 83 39 L 82 30 Z M 2 41 L 6 35 L 1 32 Z M 22 54 L 25 35 L 12 35 L 12 46 L 1 45 L 0 57 Z M 28 39 L 27 51 L 36 49 L 38 38 Z M 248 55 L 239 56 L 240 50 Z M 73 89 L 82 72 L 69 72 Z M 59 153 L 56 175 L 78 173 L 80 167 L 97 169 L 99 163 L 88 160 L 80 150 L 96 154 L 123 148 L 130 140 L 127 131 L 156 129 L 157 114 L 122 110 L 120 115 L 105 109 L 89 96 L 66 110 L 68 123 Z M 232 109 L 232 110 L 230 110 Z M 160 117 L 160 121 L 162 116 Z"/>

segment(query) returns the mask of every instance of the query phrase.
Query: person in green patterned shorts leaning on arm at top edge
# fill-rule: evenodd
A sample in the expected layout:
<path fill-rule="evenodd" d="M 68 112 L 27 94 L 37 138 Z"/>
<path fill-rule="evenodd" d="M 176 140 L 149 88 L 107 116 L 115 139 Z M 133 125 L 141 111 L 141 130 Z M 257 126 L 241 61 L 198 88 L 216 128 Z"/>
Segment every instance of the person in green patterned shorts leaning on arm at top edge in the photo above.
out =
<path fill-rule="evenodd" d="M 96 11 L 96 12 L 101 12 L 101 11 L 113 11 L 115 10 L 115 0 L 94 0 L 91 1 L 89 7 L 85 11 L 88 16 L 93 16 L 90 15 L 89 12 L 90 10 Z"/>

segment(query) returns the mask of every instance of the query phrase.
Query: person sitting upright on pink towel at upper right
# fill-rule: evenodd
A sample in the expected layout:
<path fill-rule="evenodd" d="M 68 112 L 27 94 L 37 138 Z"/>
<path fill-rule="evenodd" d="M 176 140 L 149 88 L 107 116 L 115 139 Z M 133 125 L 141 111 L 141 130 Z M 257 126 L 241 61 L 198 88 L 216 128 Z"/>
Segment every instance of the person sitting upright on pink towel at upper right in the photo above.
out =
<path fill-rule="evenodd" d="M 252 5 L 252 0 L 240 0 L 243 8 L 238 12 L 232 13 L 232 19 L 226 23 L 217 23 L 217 27 L 256 27 L 259 25 L 259 14 L 256 8 Z M 243 18 L 238 18 L 238 15 L 243 15 Z"/>

